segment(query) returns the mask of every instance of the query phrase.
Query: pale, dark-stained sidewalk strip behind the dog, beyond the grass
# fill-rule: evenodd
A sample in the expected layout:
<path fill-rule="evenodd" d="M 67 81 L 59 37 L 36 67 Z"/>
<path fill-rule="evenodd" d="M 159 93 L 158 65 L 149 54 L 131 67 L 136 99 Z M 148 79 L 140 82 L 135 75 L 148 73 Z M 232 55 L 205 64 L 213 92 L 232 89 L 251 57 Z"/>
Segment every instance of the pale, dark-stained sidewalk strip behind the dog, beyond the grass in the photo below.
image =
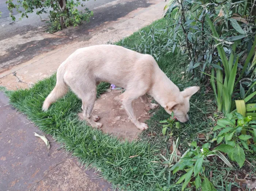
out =
<path fill-rule="evenodd" d="M 136 3 L 145 8 L 135 9 Z M 0 55 L 4 55 L 0 59 L 0 85 L 8 89 L 31 87 L 39 79 L 56 72 L 59 65 L 76 49 L 116 42 L 161 18 L 165 5 L 163 0 L 112 1 L 98 7 L 99 10 L 107 8 L 111 14 L 100 15 L 102 12 L 99 11 L 100 18 L 96 18 L 95 11 L 89 26 L 82 25 L 55 34 L 47 34 L 39 29 L 4 39 L 0 41 L 0 46 L 5 48 L 0 51 Z M 120 6 L 127 6 L 128 10 L 125 10 L 132 11 L 124 15 L 122 9 L 119 10 Z M 110 15 L 112 19 L 109 18 Z M 93 23 L 94 19 L 99 20 Z"/>

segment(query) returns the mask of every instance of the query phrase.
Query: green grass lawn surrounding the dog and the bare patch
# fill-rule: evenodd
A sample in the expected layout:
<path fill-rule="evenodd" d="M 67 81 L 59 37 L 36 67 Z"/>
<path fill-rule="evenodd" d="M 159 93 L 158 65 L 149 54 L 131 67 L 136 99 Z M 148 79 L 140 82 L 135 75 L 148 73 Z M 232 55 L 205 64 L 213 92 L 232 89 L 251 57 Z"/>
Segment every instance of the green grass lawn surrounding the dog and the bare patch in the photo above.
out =
<path fill-rule="evenodd" d="M 186 56 L 180 51 L 172 52 L 168 46 L 165 47 L 168 31 L 162 30 L 159 34 L 152 30 L 152 27 L 154 30 L 162 29 L 171 23 L 171 20 L 160 19 L 117 43 L 143 53 L 163 52 L 156 56 L 158 65 L 181 90 L 188 86 L 201 87 L 200 92 L 191 98 L 190 121 L 181 124 L 180 129 L 168 129 L 166 136 L 161 134 L 162 126 L 159 121 L 168 118 L 169 115 L 162 108 L 147 122 L 149 128 L 142 133 L 141 139 L 132 143 L 121 142 L 116 137 L 106 135 L 79 121 L 77 113 L 81 111 L 82 102 L 71 91 L 54 103 L 47 112 L 42 112 L 42 103 L 55 86 L 56 75 L 36 83 L 31 89 L 5 92 L 11 104 L 25 113 L 39 129 L 52 135 L 87 167 L 91 165 L 99 169 L 102 176 L 112 183 L 113 188 L 144 191 L 157 188 L 161 190 L 167 186 L 171 190 L 181 190 L 182 185 L 174 184 L 181 174 L 171 175 L 171 172 L 161 164 L 162 158 L 159 153 L 168 158 L 170 144 L 177 137 L 180 139 L 181 152 L 186 150 L 193 140 L 202 142 L 197 139 L 199 133 L 205 133 L 211 139 L 213 124 L 208 116 L 212 116 L 216 108 L 212 94 L 205 93 L 205 85 L 201 85 L 196 77 L 189 79 L 184 73 L 187 65 Z M 155 40 L 151 39 L 152 35 Z M 107 88 L 109 84 L 101 83 L 97 95 Z M 138 156 L 130 158 L 135 155 Z M 213 159 L 206 167 L 206 175 L 210 174 L 212 168 L 213 174 L 216 175 L 212 182 L 219 190 L 225 190 L 225 182 L 229 184 L 228 180 L 232 177 L 230 169 Z"/>

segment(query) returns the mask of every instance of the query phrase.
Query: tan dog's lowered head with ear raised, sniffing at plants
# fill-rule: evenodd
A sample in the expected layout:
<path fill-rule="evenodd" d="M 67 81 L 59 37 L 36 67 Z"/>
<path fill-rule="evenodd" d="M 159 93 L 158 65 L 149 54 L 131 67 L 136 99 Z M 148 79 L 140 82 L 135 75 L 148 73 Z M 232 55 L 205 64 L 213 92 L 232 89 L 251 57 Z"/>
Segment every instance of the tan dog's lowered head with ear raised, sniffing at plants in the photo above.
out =
<path fill-rule="evenodd" d="M 189 120 L 189 99 L 195 94 L 200 87 L 188 87 L 181 91 L 175 101 L 170 101 L 166 104 L 165 111 L 170 115 L 174 113 L 174 117 L 180 122 L 187 122 Z"/>

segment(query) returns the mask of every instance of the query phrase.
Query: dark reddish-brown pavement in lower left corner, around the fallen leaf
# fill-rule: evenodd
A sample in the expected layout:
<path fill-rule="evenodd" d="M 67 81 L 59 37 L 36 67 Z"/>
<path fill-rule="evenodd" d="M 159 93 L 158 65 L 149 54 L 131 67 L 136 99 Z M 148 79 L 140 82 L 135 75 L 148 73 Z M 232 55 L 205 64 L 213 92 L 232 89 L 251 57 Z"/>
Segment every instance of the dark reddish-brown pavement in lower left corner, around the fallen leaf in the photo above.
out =
<path fill-rule="evenodd" d="M 8 105 L 0 92 L 0 190 L 88 190 L 110 191 L 111 184 L 93 179 L 94 169 L 84 171 L 51 136 L 50 149 L 34 136 L 42 135 L 26 116 Z"/>

